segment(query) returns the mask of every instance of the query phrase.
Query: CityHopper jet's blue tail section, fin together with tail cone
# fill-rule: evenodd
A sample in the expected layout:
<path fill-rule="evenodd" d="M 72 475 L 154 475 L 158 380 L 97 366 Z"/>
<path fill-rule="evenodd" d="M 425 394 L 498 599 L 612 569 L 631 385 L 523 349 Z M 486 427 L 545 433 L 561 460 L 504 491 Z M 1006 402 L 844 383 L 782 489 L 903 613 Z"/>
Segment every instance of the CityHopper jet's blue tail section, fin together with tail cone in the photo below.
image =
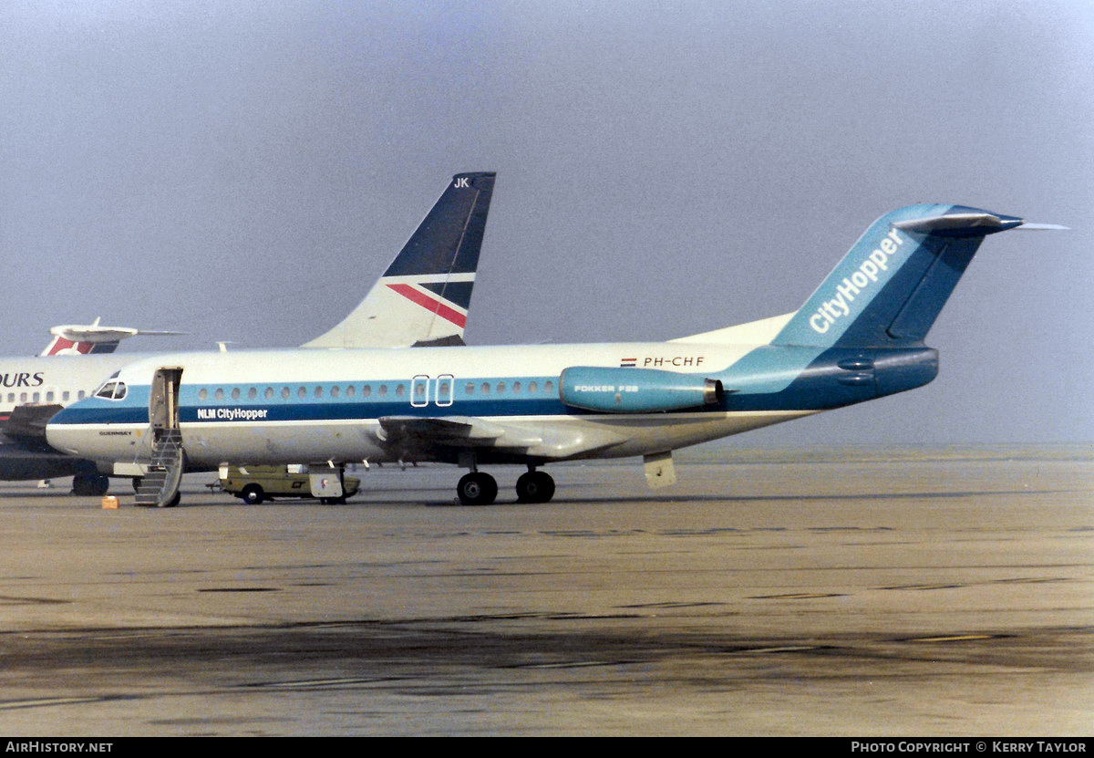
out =
<path fill-rule="evenodd" d="M 874 221 L 796 312 L 687 337 L 757 347 L 722 380 L 742 410 L 850 405 L 922 387 L 938 374 L 923 340 L 988 234 L 1033 225 L 955 205 L 915 205 Z"/>

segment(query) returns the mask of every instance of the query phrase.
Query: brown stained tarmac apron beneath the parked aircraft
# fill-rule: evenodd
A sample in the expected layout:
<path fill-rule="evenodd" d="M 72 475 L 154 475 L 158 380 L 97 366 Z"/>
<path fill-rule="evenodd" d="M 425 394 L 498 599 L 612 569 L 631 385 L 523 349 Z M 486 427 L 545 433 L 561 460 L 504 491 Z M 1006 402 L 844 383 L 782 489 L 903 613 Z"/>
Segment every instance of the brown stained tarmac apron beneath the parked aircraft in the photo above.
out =
<path fill-rule="evenodd" d="M 1089 736 L 1094 446 L 0 484 L 0 734 Z"/>

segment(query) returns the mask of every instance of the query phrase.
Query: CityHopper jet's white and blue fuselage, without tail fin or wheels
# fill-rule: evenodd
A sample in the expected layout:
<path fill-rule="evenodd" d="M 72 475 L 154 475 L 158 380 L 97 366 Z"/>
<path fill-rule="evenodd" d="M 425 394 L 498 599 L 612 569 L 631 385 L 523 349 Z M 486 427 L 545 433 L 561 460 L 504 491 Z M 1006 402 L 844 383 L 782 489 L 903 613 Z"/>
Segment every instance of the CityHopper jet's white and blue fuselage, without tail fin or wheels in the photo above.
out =
<path fill-rule="evenodd" d="M 124 398 L 96 397 L 66 410 L 48 435 L 54 447 L 95 460 L 147 456 L 151 377 L 171 367 L 182 369 L 178 427 L 194 466 L 457 462 L 458 449 L 468 445 L 420 438 L 418 424 L 428 420 L 468 420 L 467 435 L 490 436 L 489 444 L 472 440 L 480 462 L 617 458 L 918 387 L 934 377 L 936 366 L 929 348 L 674 342 L 164 355 L 119 374 Z M 565 372 L 573 367 L 595 368 L 602 379 L 566 391 L 603 395 L 608 411 L 568 402 Z M 672 410 L 610 412 L 612 403 L 629 397 L 660 402 L 665 390 L 650 382 L 662 376 L 706 378 L 721 382 L 724 392 L 713 402 L 685 400 Z"/>

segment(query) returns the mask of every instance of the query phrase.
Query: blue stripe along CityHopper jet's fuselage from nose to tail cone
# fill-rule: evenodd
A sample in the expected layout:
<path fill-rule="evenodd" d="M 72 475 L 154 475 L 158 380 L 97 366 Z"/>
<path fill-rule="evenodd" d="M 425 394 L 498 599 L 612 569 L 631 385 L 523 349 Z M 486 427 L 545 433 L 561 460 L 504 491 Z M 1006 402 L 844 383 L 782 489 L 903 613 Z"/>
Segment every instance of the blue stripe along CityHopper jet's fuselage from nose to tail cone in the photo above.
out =
<path fill-rule="evenodd" d="M 731 366 L 710 376 L 720 379 L 729 392 L 718 403 L 665 413 L 711 413 L 750 411 L 818 411 L 850 405 L 882 394 L 889 387 L 910 389 L 930 381 L 936 371 L 933 351 L 848 351 L 833 348 L 814 356 L 801 366 L 805 351 L 760 348 L 748 354 L 767 353 L 767 370 L 752 375 Z M 808 351 L 812 353 L 812 351 Z M 747 360 L 747 359 L 746 359 Z M 848 364 L 847 361 L 851 361 Z M 863 361 L 865 361 L 863 364 Z M 847 368 L 859 364 L 885 366 L 888 384 L 876 378 L 874 369 Z M 622 369 L 626 370 L 626 369 Z M 765 379 L 766 378 L 766 379 Z M 776 379 L 776 381 L 770 381 Z M 758 381 L 757 381 L 758 380 Z M 293 382 L 280 384 L 232 384 L 216 387 L 183 386 L 179 392 L 178 420 L 184 424 L 225 422 L 324 422 L 375 421 L 383 416 L 601 416 L 610 414 L 566 405 L 558 393 L 557 377 L 478 377 L 447 378 L 438 394 L 437 378 L 422 379 L 423 392 L 411 402 L 415 380 L 353 382 Z M 381 395 L 380 388 L 386 389 Z M 252 388 L 259 399 L 249 399 Z M 267 387 L 274 398 L 265 400 Z M 353 387 L 352 397 L 347 388 Z M 363 388 L 370 394 L 362 397 Z M 535 387 L 533 391 L 531 388 Z M 337 388 L 337 395 L 331 397 Z M 488 389 L 487 389 L 488 388 Z M 514 389 L 519 388 L 519 389 Z M 287 391 L 288 397 L 282 397 Z M 200 393 L 205 393 L 203 397 Z M 218 392 L 221 397 L 217 397 Z M 233 398 L 233 393 L 238 397 Z M 62 410 L 54 417 L 58 424 L 147 424 L 150 388 L 129 386 L 124 400 L 89 399 Z M 450 402 L 451 398 L 451 402 Z"/>

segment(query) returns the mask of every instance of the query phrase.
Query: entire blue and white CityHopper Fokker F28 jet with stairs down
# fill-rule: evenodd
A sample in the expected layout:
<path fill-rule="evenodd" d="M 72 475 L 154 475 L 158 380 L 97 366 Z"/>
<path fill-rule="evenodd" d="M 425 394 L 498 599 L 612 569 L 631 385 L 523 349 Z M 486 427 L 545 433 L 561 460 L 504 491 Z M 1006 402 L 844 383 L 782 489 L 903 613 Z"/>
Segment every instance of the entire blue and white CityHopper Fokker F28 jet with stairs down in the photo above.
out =
<path fill-rule="evenodd" d="M 554 494 L 540 466 L 581 458 L 641 456 L 661 486 L 677 448 L 930 382 L 928 330 L 984 238 L 1023 226 L 1049 228 L 901 208 L 800 310 L 666 343 L 159 356 L 57 414 L 47 436 L 103 464 L 174 438 L 167 466 L 303 461 L 333 480 L 350 462 L 442 461 L 469 469 L 456 487 L 466 504 L 494 499 L 479 470 L 494 463 L 527 467 L 522 502 Z"/>

